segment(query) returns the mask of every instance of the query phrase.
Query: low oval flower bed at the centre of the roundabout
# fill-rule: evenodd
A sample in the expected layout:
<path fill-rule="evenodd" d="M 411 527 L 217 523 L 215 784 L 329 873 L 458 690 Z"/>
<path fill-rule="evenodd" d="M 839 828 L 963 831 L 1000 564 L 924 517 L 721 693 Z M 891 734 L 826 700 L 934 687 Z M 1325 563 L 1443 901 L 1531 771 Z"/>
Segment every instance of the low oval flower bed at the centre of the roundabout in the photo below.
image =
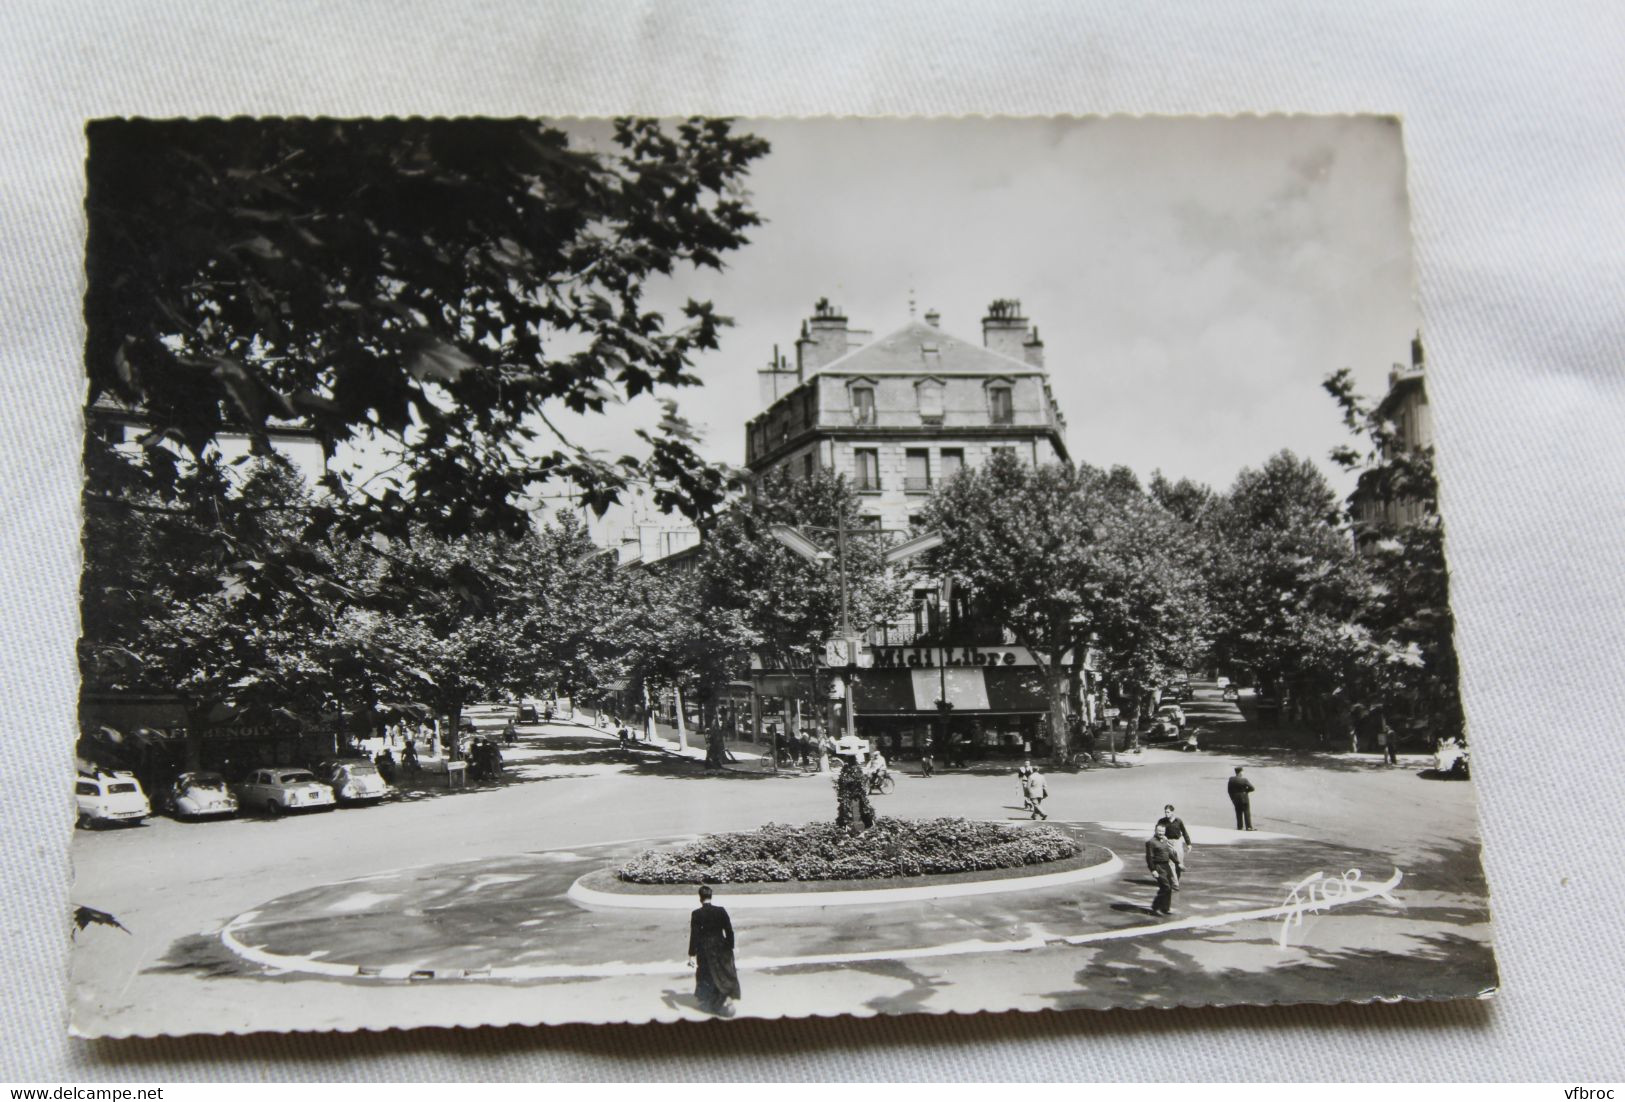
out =
<path fill-rule="evenodd" d="M 710 834 L 647 850 L 616 870 L 634 884 L 746 884 L 895 879 L 1043 865 L 1077 855 L 1077 842 L 1045 826 L 970 819 L 879 819 L 853 835 L 834 822 Z"/>

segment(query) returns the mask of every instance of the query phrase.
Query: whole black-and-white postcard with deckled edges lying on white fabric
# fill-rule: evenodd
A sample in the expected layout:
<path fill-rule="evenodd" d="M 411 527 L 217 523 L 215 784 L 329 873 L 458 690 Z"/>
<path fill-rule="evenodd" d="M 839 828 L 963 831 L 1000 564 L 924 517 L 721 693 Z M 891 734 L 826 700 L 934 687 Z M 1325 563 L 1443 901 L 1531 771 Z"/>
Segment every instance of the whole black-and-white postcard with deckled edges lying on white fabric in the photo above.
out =
<path fill-rule="evenodd" d="M 109 119 L 86 210 L 78 1034 L 1495 990 L 1396 120 Z"/>

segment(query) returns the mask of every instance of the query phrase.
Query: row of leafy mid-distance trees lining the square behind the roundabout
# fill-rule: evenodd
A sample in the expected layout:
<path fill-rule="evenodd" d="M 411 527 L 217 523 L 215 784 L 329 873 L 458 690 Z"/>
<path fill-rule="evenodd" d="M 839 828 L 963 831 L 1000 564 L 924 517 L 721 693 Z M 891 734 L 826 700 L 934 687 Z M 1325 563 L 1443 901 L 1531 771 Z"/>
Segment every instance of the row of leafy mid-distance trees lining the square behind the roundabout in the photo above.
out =
<path fill-rule="evenodd" d="M 1406 501 L 1427 494 L 1427 457 L 1398 453 L 1344 379 L 1329 387 L 1350 424 L 1373 431 L 1372 450 L 1347 457 L 1363 470 L 1362 496 L 1381 492 L 1373 483 Z M 653 697 L 679 689 L 704 710 L 748 676 L 751 652 L 804 666 L 837 632 L 837 572 L 770 527 L 861 523 L 843 479 L 772 476 L 705 520 L 682 569 L 619 571 L 570 512 L 517 536 L 418 525 L 401 538 L 312 541 L 317 491 L 275 458 L 185 471 L 179 496 L 203 496 L 187 479 L 223 473 L 206 527 L 151 494 L 93 497 L 86 512 L 88 681 L 177 691 L 198 736 L 228 702 L 309 720 L 413 701 L 455 723 L 478 699 L 622 683 Z M 996 458 L 939 489 L 923 523 L 944 544 L 923 567 L 1032 650 L 1058 754 L 1069 753 L 1077 676 L 1066 657 L 1086 644 L 1131 722 L 1173 671 L 1216 665 L 1290 694 L 1328 730 L 1357 707 L 1386 707 L 1459 733 L 1436 510 L 1404 528 L 1367 512 L 1357 523 L 1315 465 L 1287 452 L 1222 492 Z M 855 624 L 908 606 L 912 579 L 884 549 L 848 541 Z"/>

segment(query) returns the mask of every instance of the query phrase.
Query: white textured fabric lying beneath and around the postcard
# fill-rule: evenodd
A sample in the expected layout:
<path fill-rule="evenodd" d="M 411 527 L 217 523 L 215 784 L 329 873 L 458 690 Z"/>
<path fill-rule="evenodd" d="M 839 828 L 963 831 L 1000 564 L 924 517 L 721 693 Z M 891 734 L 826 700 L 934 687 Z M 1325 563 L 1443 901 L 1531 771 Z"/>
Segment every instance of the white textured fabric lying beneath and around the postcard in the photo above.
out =
<path fill-rule="evenodd" d="M 0 5 L 0 1079 L 1620 1079 L 1625 5 Z M 65 1035 L 81 122 L 109 114 L 1398 112 L 1492 1003 Z"/>

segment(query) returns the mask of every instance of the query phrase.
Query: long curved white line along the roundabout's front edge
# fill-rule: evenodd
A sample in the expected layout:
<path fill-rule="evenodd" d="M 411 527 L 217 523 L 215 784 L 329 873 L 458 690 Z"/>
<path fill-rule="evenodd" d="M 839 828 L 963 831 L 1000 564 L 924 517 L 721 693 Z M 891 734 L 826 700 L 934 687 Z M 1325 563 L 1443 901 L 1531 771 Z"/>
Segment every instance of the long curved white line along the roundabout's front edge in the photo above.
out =
<path fill-rule="evenodd" d="M 1308 902 L 1284 904 L 1279 907 L 1259 907 L 1253 910 L 1233 910 L 1219 915 L 1194 915 L 1176 922 L 1160 922 L 1149 926 L 1124 926 L 1121 930 L 1097 930 L 1094 933 L 1071 936 L 1034 935 L 1019 941 L 954 941 L 938 946 L 918 946 L 913 949 L 876 949 L 873 952 L 826 952 L 800 957 L 744 957 L 736 967 L 751 972 L 765 969 L 788 969 L 829 964 L 858 964 L 866 961 L 918 961 L 923 957 L 968 956 L 978 952 L 1022 952 L 1046 946 L 1084 946 L 1098 941 L 1123 941 L 1149 935 L 1172 933 L 1176 930 L 1207 930 L 1214 926 L 1230 926 L 1238 922 L 1254 922 L 1263 918 L 1282 918 L 1302 915 L 1308 910 L 1321 912 L 1349 904 L 1365 902 L 1373 897 L 1389 897 L 1399 886 L 1404 874 L 1396 868 L 1381 884 L 1362 884 L 1358 889 L 1337 899 L 1320 900 L 1318 905 Z M 416 964 L 393 964 L 379 967 L 362 967 L 356 964 L 336 964 L 315 961 L 309 956 L 294 957 L 270 952 L 260 946 L 249 946 L 237 936 L 245 931 L 255 912 L 239 915 L 226 923 L 219 931 L 228 949 L 242 959 L 258 964 L 275 972 L 306 972 L 333 978 L 380 978 L 380 980 L 562 980 L 562 978 L 616 978 L 630 975 L 684 975 L 691 969 L 678 961 L 655 961 L 647 964 L 604 962 L 604 964 L 548 964 L 548 965 L 514 965 L 514 967 L 481 967 L 481 969 L 424 969 Z"/>

